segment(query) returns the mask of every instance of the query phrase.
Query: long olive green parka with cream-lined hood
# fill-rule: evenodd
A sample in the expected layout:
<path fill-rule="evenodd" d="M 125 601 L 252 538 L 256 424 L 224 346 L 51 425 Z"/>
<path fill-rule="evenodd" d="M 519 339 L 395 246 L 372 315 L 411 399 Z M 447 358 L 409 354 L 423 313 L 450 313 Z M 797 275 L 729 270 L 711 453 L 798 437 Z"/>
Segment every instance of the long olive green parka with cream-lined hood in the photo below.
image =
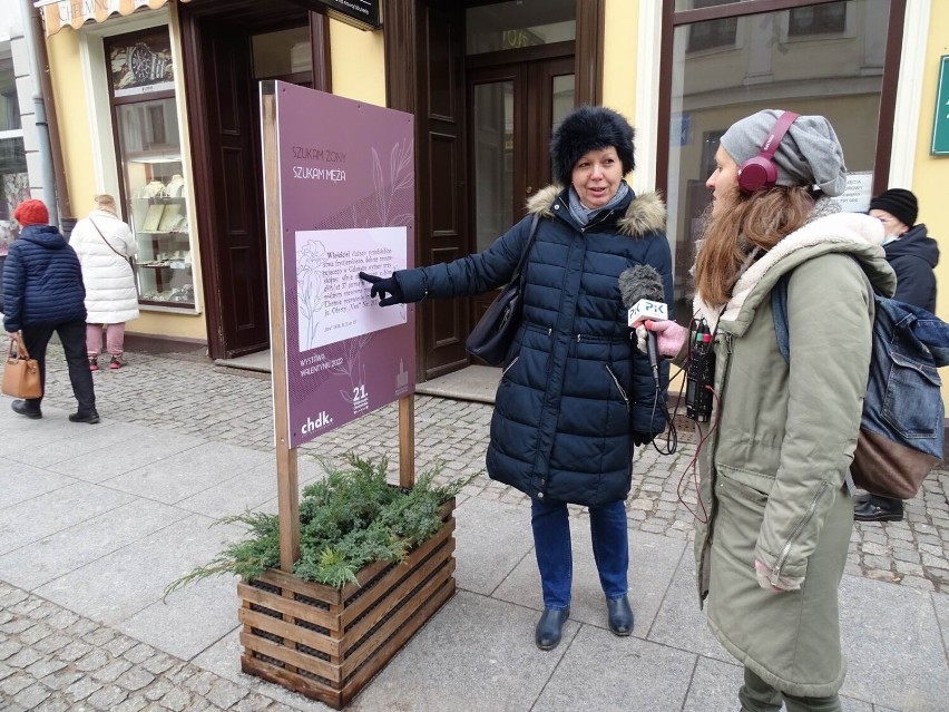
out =
<path fill-rule="evenodd" d="M 853 527 L 844 476 L 867 389 L 873 299 L 896 279 L 867 215 L 818 214 L 754 262 L 731 301 L 696 310 L 713 324 L 714 410 L 701 423 L 695 537 L 699 601 L 722 644 L 769 684 L 825 696 L 843 684 L 838 586 Z M 832 213 L 832 214 L 829 214 Z M 771 290 L 785 273 L 790 363 Z M 721 312 L 721 313 L 720 313 Z M 775 593 L 755 559 L 800 591 Z"/>

